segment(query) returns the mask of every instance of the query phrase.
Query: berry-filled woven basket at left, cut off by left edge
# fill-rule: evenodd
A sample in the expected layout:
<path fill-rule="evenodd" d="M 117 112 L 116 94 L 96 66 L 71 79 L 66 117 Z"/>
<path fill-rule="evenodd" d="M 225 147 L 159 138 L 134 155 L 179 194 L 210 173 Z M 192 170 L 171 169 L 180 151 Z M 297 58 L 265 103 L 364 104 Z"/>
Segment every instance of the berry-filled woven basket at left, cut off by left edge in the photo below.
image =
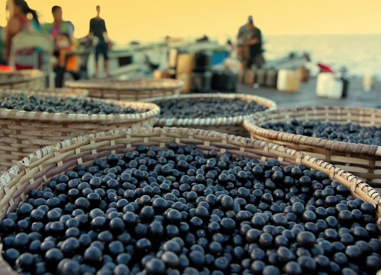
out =
<path fill-rule="evenodd" d="M 30 152 L 54 142 L 115 128 L 150 127 L 154 104 L 0 91 L 0 173 Z"/>

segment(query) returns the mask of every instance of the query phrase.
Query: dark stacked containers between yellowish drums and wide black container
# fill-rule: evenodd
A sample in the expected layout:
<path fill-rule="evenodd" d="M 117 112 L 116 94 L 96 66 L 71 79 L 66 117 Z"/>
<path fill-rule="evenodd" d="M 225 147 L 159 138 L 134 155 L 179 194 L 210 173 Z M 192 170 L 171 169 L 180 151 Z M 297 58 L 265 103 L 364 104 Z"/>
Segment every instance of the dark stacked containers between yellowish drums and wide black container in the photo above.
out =
<path fill-rule="evenodd" d="M 212 89 L 211 55 L 198 51 L 194 55 L 192 90 L 196 93 L 208 93 Z"/>

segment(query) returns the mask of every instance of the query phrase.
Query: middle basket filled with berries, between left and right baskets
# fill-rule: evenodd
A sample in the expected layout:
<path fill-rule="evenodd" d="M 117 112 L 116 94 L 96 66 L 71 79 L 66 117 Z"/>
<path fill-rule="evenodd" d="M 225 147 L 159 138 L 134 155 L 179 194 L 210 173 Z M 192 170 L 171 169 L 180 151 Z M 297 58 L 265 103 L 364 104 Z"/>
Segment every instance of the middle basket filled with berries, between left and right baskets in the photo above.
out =
<path fill-rule="evenodd" d="M 200 128 L 247 136 L 242 121 L 248 116 L 272 110 L 268 99 L 240 94 L 194 94 L 145 100 L 157 104 L 161 113 L 156 126 Z"/>

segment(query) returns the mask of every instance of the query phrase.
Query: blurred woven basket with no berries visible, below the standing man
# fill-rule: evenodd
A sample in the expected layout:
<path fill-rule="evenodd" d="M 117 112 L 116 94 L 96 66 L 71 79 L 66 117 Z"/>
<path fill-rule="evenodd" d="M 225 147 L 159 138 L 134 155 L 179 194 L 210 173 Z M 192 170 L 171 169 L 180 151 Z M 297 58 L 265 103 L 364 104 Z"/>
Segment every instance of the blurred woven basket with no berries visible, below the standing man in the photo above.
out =
<path fill-rule="evenodd" d="M 183 82 L 176 79 L 67 81 L 68 88 L 88 89 L 90 97 L 140 101 L 152 97 L 180 95 Z"/>

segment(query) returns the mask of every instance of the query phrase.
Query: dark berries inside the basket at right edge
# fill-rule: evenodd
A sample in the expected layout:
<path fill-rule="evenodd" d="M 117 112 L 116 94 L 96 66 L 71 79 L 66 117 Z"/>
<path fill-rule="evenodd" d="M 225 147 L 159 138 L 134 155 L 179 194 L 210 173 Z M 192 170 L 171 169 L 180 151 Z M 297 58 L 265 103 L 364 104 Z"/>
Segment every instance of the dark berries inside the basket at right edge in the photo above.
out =
<path fill-rule="evenodd" d="M 291 123 L 266 123 L 261 127 L 308 137 L 381 146 L 381 127 L 362 127 L 351 123 L 322 123 L 297 119 L 293 119 Z"/>

